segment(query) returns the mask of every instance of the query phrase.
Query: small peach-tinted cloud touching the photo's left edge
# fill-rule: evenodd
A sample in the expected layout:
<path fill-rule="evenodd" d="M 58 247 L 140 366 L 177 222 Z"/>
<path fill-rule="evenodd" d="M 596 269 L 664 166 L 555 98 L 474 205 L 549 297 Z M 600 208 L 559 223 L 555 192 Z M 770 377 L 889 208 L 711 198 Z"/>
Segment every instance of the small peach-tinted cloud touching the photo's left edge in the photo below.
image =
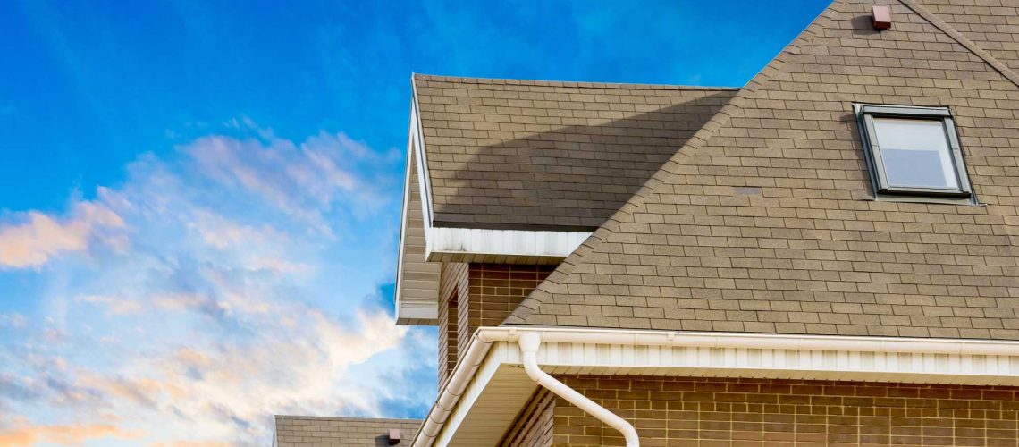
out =
<path fill-rule="evenodd" d="M 105 229 L 124 226 L 116 213 L 91 202 L 75 204 L 63 219 L 33 211 L 22 220 L 0 226 L 0 268 L 40 267 L 60 254 L 86 252 Z"/>

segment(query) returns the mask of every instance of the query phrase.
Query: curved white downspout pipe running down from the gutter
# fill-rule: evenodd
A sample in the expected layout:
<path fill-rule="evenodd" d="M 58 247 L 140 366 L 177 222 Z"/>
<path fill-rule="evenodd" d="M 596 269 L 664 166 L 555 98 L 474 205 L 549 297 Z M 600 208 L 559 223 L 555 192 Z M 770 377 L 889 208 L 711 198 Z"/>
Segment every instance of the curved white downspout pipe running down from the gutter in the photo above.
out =
<path fill-rule="evenodd" d="M 609 411 L 605 407 L 594 403 L 587 396 L 568 387 L 548 373 L 541 371 L 538 367 L 538 346 L 541 345 L 541 335 L 537 332 L 525 332 L 520 335 L 520 350 L 524 356 L 524 371 L 535 383 L 545 387 L 548 391 L 555 393 L 574 405 L 580 407 L 588 414 L 593 415 L 598 421 L 607 424 L 609 427 L 623 433 L 623 438 L 627 440 L 627 447 L 640 447 L 640 438 L 637 437 L 637 430 L 626 420 Z"/>

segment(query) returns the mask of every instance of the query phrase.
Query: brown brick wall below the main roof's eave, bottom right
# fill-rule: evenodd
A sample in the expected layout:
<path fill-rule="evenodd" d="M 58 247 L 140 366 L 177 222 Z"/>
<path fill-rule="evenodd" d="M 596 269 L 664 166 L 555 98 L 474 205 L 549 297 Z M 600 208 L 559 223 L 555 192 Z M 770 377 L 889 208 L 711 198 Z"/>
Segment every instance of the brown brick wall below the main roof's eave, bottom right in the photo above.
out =
<path fill-rule="evenodd" d="M 1019 445 L 1019 387 L 622 376 L 559 379 L 634 424 L 641 445 L 647 447 Z M 615 430 L 562 399 L 554 401 L 551 445 L 624 445 Z M 529 430 L 515 426 L 506 439 Z"/>

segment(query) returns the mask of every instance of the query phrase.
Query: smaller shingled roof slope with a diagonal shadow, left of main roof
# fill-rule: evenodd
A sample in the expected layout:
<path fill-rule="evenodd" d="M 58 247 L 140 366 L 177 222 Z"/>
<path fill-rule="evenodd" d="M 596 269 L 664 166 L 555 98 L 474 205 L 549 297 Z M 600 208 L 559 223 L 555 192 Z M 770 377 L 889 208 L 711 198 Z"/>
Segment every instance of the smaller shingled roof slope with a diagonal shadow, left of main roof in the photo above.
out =
<path fill-rule="evenodd" d="M 591 230 L 738 89 L 414 76 L 434 226 Z"/>

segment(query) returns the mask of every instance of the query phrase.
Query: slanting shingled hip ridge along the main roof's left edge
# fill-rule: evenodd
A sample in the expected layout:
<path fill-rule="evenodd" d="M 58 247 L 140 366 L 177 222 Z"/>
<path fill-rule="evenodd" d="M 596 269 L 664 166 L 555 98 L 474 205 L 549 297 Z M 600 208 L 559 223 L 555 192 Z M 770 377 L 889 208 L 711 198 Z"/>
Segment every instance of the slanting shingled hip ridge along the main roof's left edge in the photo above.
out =
<path fill-rule="evenodd" d="M 674 169 L 682 163 L 679 160 L 692 157 L 696 151 L 698 151 L 709 138 L 715 135 L 722 125 L 727 124 L 732 117 L 732 112 L 739 110 L 743 107 L 743 103 L 749 99 L 749 96 L 755 94 L 757 90 L 767 80 L 771 79 L 771 76 L 775 72 L 780 71 L 779 68 L 785 63 L 784 59 L 788 55 L 799 53 L 801 47 L 809 44 L 811 39 L 817 35 L 815 30 L 821 26 L 821 20 L 827 17 L 827 14 L 833 11 L 833 6 L 836 4 L 842 4 L 843 0 L 834 0 L 827 7 L 824 8 L 814 19 L 807 25 L 800 34 L 789 43 L 785 48 L 782 49 L 779 54 L 771 59 L 764 68 L 761 68 L 757 74 L 754 75 L 747 82 L 747 85 L 737 93 L 728 104 L 721 107 L 711 117 L 687 143 L 680 148 L 661 167 L 653 174 L 646 182 L 640 187 L 630 198 L 625 204 L 623 204 L 620 209 L 612 214 L 608 220 L 605 221 L 597 230 L 595 230 L 587 240 L 584 241 L 573 254 L 567 257 L 561 264 L 550 274 L 548 277 L 538 285 L 534 291 L 531 292 L 524 300 L 514 310 L 513 314 L 506 318 L 502 324 L 513 325 L 513 324 L 525 324 L 529 317 L 531 317 L 538 308 L 547 299 L 552 292 L 546 290 L 548 284 L 554 284 L 555 286 L 561 286 L 561 281 L 567 276 L 573 273 L 573 271 L 580 265 L 588 255 L 590 255 L 600 243 L 604 242 L 607 233 L 611 233 L 619 228 L 621 224 L 624 223 L 626 216 L 632 216 L 631 213 L 634 210 L 639 209 L 643 203 L 655 193 L 658 186 L 666 184 L 664 181 L 667 177 L 675 175 Z"/>

